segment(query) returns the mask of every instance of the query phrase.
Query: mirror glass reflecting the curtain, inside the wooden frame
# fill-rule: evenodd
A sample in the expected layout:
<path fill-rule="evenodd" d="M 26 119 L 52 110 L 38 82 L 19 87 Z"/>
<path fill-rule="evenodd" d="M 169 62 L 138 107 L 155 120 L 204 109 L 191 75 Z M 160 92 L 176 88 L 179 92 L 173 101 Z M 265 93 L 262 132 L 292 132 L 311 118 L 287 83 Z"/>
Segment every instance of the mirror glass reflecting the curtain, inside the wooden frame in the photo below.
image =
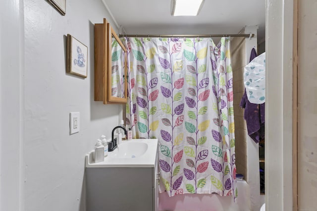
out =
<path fill-rule="evenodd" d="M 124 98 L 125 60 L 124 50 L 112 35 L 111 38 L 111 96 Z"/>

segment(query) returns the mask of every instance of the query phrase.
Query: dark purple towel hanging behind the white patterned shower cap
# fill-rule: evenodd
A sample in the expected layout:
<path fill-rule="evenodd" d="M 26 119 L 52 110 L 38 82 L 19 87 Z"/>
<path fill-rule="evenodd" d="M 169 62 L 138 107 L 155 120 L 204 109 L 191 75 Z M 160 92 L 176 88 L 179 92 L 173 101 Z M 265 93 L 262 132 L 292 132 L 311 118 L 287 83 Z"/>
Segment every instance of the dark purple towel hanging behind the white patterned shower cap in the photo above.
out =
<path fill-rule="evenodd" d="M 252 48 L 250 62 L 257 57 L 257 52 Z M 248 134 L 256 142 L 259 143 L 264 139 L 264 123 L 265 123 L 265 103 L 254 104 L 248 100 L 247 92 L 244 90 L 240 107 L 244 108 L 244 119 L 247 122 Z"/>

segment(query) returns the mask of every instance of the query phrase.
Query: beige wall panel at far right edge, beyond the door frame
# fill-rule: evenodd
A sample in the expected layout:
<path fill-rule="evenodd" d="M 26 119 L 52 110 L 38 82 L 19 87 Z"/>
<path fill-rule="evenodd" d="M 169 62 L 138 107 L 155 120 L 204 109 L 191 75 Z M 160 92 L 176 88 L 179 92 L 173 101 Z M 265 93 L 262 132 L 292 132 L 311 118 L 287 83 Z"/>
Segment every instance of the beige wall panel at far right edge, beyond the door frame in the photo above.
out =
<path fill-rule="evenodd" d="M 298 210 L 317 211 L 317 0 L 299 0 Z"/>

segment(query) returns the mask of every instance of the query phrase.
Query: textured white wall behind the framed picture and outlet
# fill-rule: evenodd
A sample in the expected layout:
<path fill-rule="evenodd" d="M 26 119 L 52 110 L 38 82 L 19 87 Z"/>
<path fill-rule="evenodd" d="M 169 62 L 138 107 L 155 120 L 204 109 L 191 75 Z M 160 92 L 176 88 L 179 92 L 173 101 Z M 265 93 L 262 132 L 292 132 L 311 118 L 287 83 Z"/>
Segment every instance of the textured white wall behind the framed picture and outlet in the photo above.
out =
<path fill-rule="evenodd" d="M 24 0 L 25 210 L 85 210 L 84 156 L 110 137 L 122 106 L 94 101 L 94 23 L 110 18 L 101 0 L 66 0 L 61 16 L 45 0 Z M 117 31 L 117 27 L 109 20 Z M 88 78 L 66 74 L 66 35 L 88 46 Z M 69 135 L 69 112 L 80 132 Z"/>

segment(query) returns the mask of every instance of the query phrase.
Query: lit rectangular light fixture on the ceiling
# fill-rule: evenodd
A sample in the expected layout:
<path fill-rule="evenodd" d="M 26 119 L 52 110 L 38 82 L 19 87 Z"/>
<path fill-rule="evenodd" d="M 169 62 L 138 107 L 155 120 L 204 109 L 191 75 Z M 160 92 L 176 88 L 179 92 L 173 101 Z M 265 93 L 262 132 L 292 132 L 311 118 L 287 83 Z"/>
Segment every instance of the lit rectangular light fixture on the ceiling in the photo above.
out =
<path fill-rule="evenodd" d="M 173 16 L 196 16 L 205 0 L 171 0 L 170 9 Z"/>

